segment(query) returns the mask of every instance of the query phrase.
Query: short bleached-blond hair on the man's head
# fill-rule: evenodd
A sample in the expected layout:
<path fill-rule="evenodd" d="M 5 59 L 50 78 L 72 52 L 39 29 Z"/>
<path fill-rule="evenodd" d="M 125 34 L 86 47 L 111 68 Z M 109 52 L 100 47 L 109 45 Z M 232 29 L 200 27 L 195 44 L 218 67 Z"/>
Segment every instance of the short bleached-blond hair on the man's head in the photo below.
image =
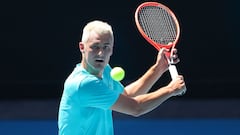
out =
<path fill-rule="evenodd" d="M 94 31 L 97 34 L 110 34 L 113 37 L 113 30 L 111 25 L 109 25 L 107 22 L 103 22 L 100 20 L 94 20 L 89 23 L 83 28 L 82 33 L 82 42 L 86 43 L 88 41 L 90 33 Z"/>

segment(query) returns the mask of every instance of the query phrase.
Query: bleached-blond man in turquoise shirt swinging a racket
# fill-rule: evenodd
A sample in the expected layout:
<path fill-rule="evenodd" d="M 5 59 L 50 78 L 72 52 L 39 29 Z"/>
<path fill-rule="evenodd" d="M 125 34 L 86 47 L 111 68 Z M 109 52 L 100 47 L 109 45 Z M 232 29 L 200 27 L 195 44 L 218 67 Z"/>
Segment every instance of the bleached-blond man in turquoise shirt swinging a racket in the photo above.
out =
<path fill-rule="evenodd" d="M 183 77 L 178 76 L 148 93 L 168 69 L 165 49 L 159 51 L 156 63 L 141 78 L 123 87 L 110 77 L 108 62 L 113 44 L 113 31 L 106 22 L 96 20 L 84 27 L 79 43 L 82 60 L 65 81 L 60 102 L 60 135 L 113 135 L 112 110 L 140 116 L 185 90 Z M 174 57 L 177 63 L 176 50 Z"/>

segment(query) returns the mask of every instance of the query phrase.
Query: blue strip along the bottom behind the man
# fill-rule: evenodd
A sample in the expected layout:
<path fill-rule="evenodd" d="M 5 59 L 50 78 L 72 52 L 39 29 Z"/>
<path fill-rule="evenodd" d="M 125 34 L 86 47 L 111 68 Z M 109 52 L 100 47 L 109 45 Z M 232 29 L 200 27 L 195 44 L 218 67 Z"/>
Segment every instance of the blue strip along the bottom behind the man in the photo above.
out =
<path fill-rule="evenodd" d="M 115 119 L 115 135 L 240 135 L 240 119 Z M 56 120 L 1 120 L 0 135 L 57 135 Z"/>

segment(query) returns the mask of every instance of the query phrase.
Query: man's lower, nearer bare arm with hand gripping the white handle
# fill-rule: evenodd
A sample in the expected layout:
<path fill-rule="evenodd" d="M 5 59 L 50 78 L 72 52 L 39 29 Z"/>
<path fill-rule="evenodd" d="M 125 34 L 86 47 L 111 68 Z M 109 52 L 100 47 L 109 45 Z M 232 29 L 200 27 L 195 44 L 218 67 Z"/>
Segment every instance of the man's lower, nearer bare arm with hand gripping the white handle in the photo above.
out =
<path fill-rule="evenodd" d="M 111 109 L 132 116 L 140 116 L 152 111 L 168 98 L 179 95 L 184 88 L 185 83 L 183 77 L 178 76 L 167 86 L 148 94 L 135 97 L 128 97 L 121 94 Z"/>

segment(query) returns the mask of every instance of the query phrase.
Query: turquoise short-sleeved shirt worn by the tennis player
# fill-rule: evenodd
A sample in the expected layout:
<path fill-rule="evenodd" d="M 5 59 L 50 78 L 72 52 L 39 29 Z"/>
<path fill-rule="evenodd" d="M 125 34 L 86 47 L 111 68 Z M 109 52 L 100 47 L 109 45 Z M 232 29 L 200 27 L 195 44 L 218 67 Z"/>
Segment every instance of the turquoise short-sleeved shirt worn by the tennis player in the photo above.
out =
<path fill-rule="evenodd" d="M 110 76 L 107 65 L 102 78 L 77 64 L 64 83 L 58 127 L 59 135 L 113 135 L 111 106 L 124 87 Z"/>

